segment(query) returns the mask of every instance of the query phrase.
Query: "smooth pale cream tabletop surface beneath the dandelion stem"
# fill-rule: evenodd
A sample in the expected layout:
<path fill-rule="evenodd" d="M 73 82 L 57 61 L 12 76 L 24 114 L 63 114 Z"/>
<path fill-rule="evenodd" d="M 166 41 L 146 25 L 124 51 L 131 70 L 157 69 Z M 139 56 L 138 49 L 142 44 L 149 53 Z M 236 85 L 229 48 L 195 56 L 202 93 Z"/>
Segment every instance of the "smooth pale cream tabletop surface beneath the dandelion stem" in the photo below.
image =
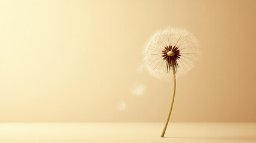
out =
<path fill-rule="evenodd" d="M 0 123 L 4 143 L 256 142 L 256 123 Z"/>

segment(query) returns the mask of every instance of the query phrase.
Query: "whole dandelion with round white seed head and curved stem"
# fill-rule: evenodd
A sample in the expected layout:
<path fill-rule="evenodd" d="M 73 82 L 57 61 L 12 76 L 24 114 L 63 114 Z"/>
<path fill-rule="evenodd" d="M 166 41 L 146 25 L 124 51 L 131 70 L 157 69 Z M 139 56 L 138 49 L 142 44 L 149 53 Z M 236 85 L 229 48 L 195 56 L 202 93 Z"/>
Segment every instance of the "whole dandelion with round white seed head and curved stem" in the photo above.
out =
<path fill-rule="evenodd" d="M 174 89 L 172 94 L 171 107 L 161 137 L 164 137 L 165 130 L 171 116 L 176 89 L 176 75 L 184 74 L 192 68 L 196 58 L 195 37 L 186 29 L 166 29 L 157 32 L 144 50 L 144 61 L 147 71 L 159 79 L 169 79 L 173 76 Z"/>

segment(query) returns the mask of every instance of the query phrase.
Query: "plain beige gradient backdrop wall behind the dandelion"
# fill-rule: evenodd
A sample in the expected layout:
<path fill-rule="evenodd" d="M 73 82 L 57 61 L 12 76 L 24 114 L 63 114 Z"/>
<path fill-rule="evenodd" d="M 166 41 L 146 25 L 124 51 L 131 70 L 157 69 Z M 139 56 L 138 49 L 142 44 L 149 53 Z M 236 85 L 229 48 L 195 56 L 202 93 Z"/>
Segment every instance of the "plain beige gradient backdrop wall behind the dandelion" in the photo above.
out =
<path fill-rule="evenodd" d="M 255 5 L 0 1 L 0 121 L 164 122 L 172 82 L 136 68 L 156 30 L 183 27 L 201 56 L 177 79 L 171 121 L 256 122 Z M 130 93 L 135 83 L 146 87 L 141 97 Z"/>

